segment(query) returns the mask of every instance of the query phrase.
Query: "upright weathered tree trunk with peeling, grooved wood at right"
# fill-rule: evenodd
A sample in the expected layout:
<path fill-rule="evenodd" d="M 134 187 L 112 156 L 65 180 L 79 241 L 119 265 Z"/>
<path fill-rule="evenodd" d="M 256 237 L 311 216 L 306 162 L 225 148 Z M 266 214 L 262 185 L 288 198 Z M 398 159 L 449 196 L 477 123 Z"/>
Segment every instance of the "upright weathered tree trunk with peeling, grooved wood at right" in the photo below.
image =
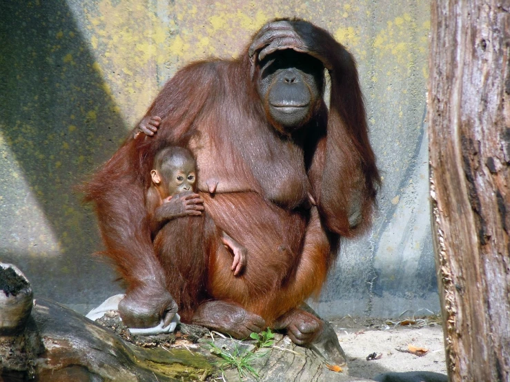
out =
<path fill-rule="evenodd" d="M 509 10 L 432 3 L 432 219 L 451 381 L 510 380 Z"/>

